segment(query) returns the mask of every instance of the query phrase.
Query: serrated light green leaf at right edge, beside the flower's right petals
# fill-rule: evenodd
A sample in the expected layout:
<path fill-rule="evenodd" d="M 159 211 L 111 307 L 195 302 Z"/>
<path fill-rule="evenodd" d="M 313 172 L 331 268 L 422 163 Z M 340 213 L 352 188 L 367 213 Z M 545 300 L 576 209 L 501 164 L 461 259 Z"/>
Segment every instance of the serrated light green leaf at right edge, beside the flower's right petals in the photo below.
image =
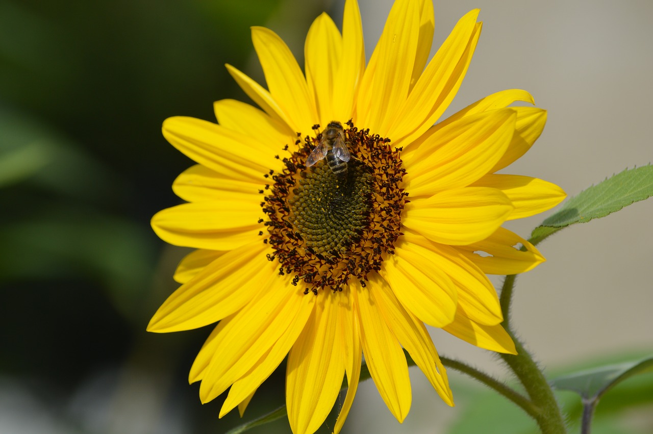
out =
<path fill-rule="evenodd" d="M 558 212 L 533 230 L 529 241 L 537 244 L 569 225 L 605 217 L 650 196 L 653 196 L 653 166 L 626 169 L 569 198 Z"/>

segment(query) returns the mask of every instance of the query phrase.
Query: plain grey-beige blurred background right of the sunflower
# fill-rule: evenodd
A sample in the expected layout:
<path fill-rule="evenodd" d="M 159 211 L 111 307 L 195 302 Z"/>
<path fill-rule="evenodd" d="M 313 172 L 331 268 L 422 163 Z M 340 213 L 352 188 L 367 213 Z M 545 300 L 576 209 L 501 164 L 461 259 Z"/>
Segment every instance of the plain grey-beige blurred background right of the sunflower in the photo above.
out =
<path fill-rule="evenodd" d="M 383 22 L 391 4 L 360 3 L 367 47 L 380 34 L 371 26 Z M 528 90 L 548 110 L 535 146 L 502 172 L 547 179 L 573 196 L 653 161 L 653 2 L 460 0 L 434 7 L 436 48 L 468 10 L 481 8 L 483 21 L 470 69 L 445 116 L 512 88 Z M 551 212 L 505 226 L 528 238 Z M 618 352 L 653 353 L 652 217 L 653 200 L 639 202 L 539 246 L 547 262 L 518 277 L 512 312 L 513 328 L 541 364 L 554 369 Z M 500 287 L 500 279 L 493 281 Z M 441 330 L 432 337 L 442 356 L 505 377 L 488 352 Z M 381 411 L 383 401 L 368 382 L 365 399 L 357 395 L 354 432 L 447 432 L 441 422 L 456 418 L 464 402 L 447 409 L 421 373 L 411 375 L 415 395 L 404 424 Z"/>

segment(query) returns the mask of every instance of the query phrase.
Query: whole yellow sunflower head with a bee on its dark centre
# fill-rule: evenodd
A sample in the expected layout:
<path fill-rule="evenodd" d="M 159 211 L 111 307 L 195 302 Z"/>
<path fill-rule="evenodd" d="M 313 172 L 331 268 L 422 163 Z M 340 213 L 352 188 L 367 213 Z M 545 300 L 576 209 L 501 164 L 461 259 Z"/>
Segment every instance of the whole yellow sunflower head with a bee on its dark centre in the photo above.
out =
<path fill-rule="evenodd" d="M 268 90 L 227 68 L 261 110 L 223 100 L 219 124 L 163 124 L 167 140 L 199 164 L 174 181 L 189 203 L 157 213 L 152 226 L 197 250 L 148 330 L 217 322 L 189 379 L 201 380 L 202 402 L 229 389 L 220 416 L 236 406 L 242 414 L 288 356 L 295 434 L 321 426 L 346 375 L 337 433 L 364 354 L 402 422 L 411 405 L 403 349 L 453 405 L 425 324 L 515 352 L 486 273 L 522 273 L 544 258 L 501 225 L 565 194 L 540 179 L 494 174 L 544 127 L 544 110 L 507 108 L 532 103 L 526 91 L 495 93 L 434 125 L 470 63 L 478 12 L 460 19 L 427 65 L 433 5 L 398 0 L 366 66 L 358 5 L 348 0 L 342 34 L 327 14 L 313 22 L 305 75 L 275 33 L 254 27 Z"/>

